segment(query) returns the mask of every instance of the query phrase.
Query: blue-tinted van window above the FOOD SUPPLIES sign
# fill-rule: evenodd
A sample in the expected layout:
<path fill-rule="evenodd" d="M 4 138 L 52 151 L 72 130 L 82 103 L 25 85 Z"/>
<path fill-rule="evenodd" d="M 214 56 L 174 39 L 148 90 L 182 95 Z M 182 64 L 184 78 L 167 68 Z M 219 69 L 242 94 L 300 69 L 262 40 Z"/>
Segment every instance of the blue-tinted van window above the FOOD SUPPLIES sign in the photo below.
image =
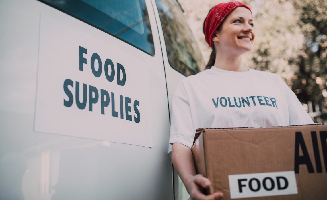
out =
<path fill-rule="evenodd" d="M 145 0 L 40 0 L 154 55 Z"/>

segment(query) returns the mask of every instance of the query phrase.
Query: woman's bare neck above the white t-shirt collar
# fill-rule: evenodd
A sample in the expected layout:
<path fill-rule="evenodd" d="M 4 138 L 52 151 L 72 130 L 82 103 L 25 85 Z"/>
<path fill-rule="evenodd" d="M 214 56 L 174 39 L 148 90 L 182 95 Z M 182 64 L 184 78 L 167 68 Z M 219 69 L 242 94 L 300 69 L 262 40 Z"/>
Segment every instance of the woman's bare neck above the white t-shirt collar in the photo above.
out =
<path fill-rule="evenodd" d="M 216 55 L 215 67 L 219 69 L 235 71 L 235 72 L 244 72 L 248 71 L 243 64 L 243 56 L 226 56 L 222 54 Z"/>

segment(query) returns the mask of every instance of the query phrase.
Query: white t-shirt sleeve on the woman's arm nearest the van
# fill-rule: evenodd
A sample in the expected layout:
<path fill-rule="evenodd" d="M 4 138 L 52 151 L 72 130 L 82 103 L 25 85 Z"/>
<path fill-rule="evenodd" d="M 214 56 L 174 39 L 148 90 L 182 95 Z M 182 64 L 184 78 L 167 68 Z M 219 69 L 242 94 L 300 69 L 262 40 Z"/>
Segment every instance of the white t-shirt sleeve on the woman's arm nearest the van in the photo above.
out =
<path fill-rule="evenodd" d="M 173 97 L 170 120 L 169 144 L 181 143 L 191 148 L 195 133 L 191 107 L 183 82 L 181 82 Z"/>

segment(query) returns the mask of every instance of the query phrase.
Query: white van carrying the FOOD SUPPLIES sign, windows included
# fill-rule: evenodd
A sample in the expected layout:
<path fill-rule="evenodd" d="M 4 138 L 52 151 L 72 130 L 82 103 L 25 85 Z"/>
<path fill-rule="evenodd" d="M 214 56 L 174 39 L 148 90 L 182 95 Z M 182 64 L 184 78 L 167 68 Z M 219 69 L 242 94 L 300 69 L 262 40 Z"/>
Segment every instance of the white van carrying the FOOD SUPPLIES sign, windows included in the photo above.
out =
<path fill-rule="evenodd" d="M 176 0 L 1 0 L 0 25 L 1 200 L 188 198 L 169 110 L 204 62 Z"/>

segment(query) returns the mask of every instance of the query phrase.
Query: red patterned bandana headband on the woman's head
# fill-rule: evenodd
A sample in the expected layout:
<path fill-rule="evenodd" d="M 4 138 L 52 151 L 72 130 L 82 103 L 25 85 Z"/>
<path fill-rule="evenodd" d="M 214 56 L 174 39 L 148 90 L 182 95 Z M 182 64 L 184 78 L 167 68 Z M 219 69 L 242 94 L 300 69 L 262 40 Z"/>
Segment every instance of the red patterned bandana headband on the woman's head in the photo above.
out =
<path fill-rule="evenodd" d="M 248 8 L 252 16 L 251 9 L 247 5 L 238 1 L 220 3 L 210 10 L 204 23 L 204 36 L 205 36 L 205 40 L 207 41 L 207 43 L 211 48 L 213 47 L 212 38 L 214 37 L 217 28 L 226 19 L 226 17 L 237 7 Z"/>

